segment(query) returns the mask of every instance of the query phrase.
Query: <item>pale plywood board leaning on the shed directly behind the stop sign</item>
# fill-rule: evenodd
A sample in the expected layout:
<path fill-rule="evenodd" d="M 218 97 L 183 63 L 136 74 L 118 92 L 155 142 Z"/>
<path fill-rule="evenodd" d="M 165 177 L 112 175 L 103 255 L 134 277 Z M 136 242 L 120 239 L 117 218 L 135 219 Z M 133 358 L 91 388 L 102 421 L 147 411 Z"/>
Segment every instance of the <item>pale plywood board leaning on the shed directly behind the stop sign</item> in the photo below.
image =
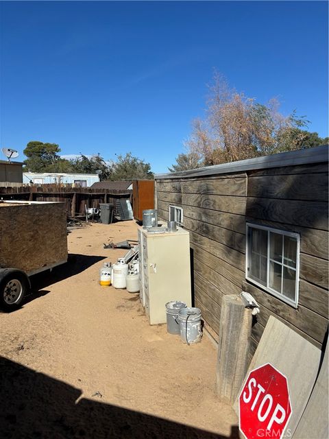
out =
<path fill-rule="evenodd" d="M 321 351 L 280 320 L 270 316 L 249 366 L 254 370 L 270 363 L 287 377 L 293 413 L 287 430 L 292 435 L 300 422 L 319 371 Z M 245 380 L 241 390 L 245 385 Z M 239 392 L 240 394 L 240 392 Z M 234 410 L 239 414 L 238 400 Z"/>

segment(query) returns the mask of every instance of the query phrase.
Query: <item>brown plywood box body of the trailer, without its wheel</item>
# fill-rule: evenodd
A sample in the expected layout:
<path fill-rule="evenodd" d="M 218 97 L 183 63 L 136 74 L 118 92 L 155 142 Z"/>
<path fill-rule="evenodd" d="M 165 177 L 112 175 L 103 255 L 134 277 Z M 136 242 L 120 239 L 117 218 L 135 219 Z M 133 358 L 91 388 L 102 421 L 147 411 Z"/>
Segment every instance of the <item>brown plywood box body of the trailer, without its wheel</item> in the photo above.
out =
<path fill-rule="evenodd" d="M 32 274 L 67 260 L 60 202 L 0 202 L 0 267 Z"/>

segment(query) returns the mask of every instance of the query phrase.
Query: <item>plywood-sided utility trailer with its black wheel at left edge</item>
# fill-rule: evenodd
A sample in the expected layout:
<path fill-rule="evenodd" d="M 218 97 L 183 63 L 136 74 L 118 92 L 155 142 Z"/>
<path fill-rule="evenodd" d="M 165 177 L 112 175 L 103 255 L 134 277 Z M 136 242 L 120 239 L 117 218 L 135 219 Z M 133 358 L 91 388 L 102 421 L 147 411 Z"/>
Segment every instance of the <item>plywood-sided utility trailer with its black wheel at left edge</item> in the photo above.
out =
<path fill-rule="evenodd" d="M 21 306 L 29 276 L 67 261 L 62 202 L 0 200 L 0 307 Z"/>

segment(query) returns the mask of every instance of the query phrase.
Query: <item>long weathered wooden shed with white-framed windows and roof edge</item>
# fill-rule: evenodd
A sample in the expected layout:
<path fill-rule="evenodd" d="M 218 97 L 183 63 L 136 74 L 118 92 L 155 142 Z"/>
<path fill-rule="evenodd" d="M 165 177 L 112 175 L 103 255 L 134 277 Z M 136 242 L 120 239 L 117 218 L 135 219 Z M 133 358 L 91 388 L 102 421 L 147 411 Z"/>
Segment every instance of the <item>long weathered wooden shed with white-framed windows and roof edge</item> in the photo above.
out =
<path fill-rule="evenodd" d="M 189 230 L 193 296 L 217 339 L 223 294 L 321 348 L 328 331 L 328 146 L 156 176 L 158 217 Z"/>

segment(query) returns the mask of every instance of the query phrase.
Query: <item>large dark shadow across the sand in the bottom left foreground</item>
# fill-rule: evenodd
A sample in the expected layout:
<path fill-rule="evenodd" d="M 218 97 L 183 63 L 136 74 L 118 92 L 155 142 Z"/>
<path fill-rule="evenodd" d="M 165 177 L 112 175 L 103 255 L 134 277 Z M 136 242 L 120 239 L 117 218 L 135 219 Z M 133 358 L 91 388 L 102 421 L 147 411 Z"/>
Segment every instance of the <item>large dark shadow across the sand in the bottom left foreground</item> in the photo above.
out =
<path fill-rule="evenodd" d="M 3 357 L 0 388 L 0 431 L 6 439 L 227 438 L 101 401 L 80 399 L 80 389 Z M 239 438 L 237 427 L 232 427 L 229 437 Z"/>

